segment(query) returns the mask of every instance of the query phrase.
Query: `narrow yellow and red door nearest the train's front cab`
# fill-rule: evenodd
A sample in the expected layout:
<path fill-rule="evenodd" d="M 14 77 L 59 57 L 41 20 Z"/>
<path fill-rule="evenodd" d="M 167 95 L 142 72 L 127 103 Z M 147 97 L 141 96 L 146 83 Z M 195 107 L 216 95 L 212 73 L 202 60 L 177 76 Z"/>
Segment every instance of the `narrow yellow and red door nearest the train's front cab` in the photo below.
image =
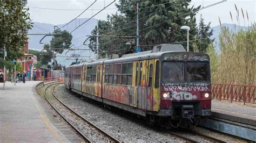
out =
<path fill-rule="evenodd" d="M 154 75 L 154 59 L 147 60 L 147 72 L 146 72 L 146 82 L 145 82 L 145 87 L 146 87 L 146 99 L 145 99 L 145 104 L 146 104 L 146 110 L 153 110 L 153 75 Z"/>

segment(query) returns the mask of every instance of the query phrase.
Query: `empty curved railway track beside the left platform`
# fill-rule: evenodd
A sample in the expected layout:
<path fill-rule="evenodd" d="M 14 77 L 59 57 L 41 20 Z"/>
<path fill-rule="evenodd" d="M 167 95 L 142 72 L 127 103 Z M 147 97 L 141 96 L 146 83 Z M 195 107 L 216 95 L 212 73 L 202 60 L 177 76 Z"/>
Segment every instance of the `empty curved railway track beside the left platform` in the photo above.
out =
<path fill-rule="evenodd" d="M 44 90 L 44 97 L 46 101 L 49 102 L 49 104 L 52 106 L 53 109 L 55 109 L 56 112 L 59 113 L 59 115 L 67 121 L 67 123 L 74 128 L 74 130 L 77 131 L 77 133 L 87 142 L 102 142 L 104 140 L 107 142 L 120 142 L 118 139 L 114 138 L 112 135 L 108 134 L 107 132 L 100 129 L 97 125 L 91 123 L 91 121 L 85 119 L 81 115 L 79 115 L 76 111 L 72 110 L 68 105 L 60 101 L 60 99 L 55 95 L 54 89 L 58 85 L 62 83 L 53 83 L 50 84 L 48 87 Z M 51 90 L 51 94 L 46 95 L 46 91 L 50 89 L 50 87 L 53 87 Z M 55 101 L 55 102 L 53 102 Z M 59 108 L 57 106 L 62 106 L 63 108 Z M 63 113 L 65 112 L 65 114 Z M 69 115 L 72 115 L 72 119 L 66 118 L 67 112 Z M 77 121 L 81 121 L 83 123 L 82 127 L 78 126 L 79 123 Z M 83 130 L 84 129 L 84 130 Z M 82 130 L 82 131 L 81 131 Z M 94 139 L 90 139 L 94 138 Z M 100 139 L 100 140 L 96 140 Z"/>

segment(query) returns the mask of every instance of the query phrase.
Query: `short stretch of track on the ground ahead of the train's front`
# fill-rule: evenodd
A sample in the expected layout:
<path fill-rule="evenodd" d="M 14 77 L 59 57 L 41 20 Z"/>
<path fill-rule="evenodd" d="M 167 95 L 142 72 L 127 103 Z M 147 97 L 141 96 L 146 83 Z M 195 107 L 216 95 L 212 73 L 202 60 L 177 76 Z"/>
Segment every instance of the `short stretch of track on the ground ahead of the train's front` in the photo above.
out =
<path fill-rule="evenodd" d="M 204 141 L 204 139 L 208 140 L 208 141 L 212 141 L 212 142 L 226 142 L 226 141 L 223 141 L 223 140 L 220 140 L 218 138 L 215 138 L 215 137 L 211 137 L 210 135 L 207 135 L 207 134 L 202 134 L 202 133 L 199 133 L 197 131 L 186 131 L 186 132 L 175 132 L 175 131 L 167 131 L 173 135 L 176 135 L 177 137 L 179 138 L 182 138 L 188 142 L 202 142 Z M 193 137 L 196 137 L 196 138 L 200 138 L 198 140 L 196 139 L 191 139 L 191 136 L 192 135 L 185 135 L 185 134 L 193 134 Z"/>

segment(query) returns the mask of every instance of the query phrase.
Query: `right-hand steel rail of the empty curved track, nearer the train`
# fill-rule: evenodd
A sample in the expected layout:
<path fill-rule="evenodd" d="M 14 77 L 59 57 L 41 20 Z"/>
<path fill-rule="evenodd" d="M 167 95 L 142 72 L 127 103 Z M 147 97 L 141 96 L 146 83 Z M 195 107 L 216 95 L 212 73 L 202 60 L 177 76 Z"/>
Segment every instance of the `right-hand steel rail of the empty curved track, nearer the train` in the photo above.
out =
<path fill-rule="evenodd" d="M 63 84 L 63 83 L 60 83 Z M 57 84 L 59 85 L 59 84 Z M 101 128 L 99 128 L 97 125 L 93 124 L 91 121 L 85 119 L 83 116 L 79 115 L 79 113 L 77 113 L 76 111 L 72 110 L 68 105 L 66 105 L 65 103 L 63 103 L 62 101 L 60 101 L 60 99 L 55 95 L 54 93 L 54 89 L 55 87 L 57 87 L 57 85 L 55 85 L 52 88 L 52 95 L 55 96 L 55 98 L 62 103 L 66 108 L 68 108 L 70 111 L 72 111 L 73 113 L 75 113 L 78 117 L 82 118 L 84 121 L 86 121 L 88 124 L 90 124 L 91 126 L 95 127 L 99 132 L 102 132 L 104 135 L 106 135 L 106 137 L 109 137 L 110 139 L 112 139 L 115 142 L 120 142 L 118 139 L 114 138 L 112 135 L 108 134 L 106 131 L 102 130 Z"/>

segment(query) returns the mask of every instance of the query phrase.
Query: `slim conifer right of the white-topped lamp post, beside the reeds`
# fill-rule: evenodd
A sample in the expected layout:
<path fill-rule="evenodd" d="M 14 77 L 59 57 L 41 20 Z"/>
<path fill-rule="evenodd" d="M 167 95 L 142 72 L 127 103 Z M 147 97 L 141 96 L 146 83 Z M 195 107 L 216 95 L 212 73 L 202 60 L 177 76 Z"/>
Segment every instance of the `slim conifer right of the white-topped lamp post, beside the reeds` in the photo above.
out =
<path fill-rule="evenodd" d="M 198 25 L 198 34 L 195 37 L 195 42 L 193 43 L 194 51 L 206 53 L 207 47 L 214 41 L 210 39 L 213 30 L 211 29 L 211 22 L 207 25 L 204 23 L 204 18 L 200 15 L 200 22 Z"/>

